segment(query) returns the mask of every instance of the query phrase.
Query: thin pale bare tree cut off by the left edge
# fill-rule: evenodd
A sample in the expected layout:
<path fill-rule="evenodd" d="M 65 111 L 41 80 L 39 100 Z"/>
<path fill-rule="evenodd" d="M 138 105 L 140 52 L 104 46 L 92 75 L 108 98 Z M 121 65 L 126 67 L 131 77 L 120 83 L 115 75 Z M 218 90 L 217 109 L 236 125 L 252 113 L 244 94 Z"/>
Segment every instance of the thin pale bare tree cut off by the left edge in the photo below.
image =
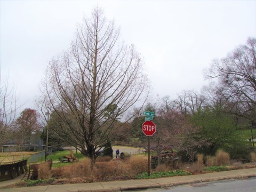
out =
<path fill-rule="evenodd" d="M 14 121 L 17 109 L 16 103 L 15 92 L 13 88 L 10 89 L 8 78 L 2 77 L 0 66 L 0 141 Z"/>

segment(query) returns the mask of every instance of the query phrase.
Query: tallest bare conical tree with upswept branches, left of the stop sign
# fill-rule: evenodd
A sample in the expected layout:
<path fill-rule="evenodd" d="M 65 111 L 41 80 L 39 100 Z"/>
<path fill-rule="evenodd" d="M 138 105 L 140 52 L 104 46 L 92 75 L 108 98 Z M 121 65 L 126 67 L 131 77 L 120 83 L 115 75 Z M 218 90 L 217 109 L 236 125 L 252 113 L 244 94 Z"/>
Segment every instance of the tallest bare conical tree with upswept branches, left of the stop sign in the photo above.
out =
<path fill-rule="evenodd" d="M 68 135 L 63 139 L 92 163 L 116 119 L 135 103 L 143 104 L 148 93 L 140 54 L 118 38 L 119 28 L 96 7 L 77 26 L 71 49 L 52 59 L 45 78 L 50 108 L 61 119 L 59 131 Z"/>

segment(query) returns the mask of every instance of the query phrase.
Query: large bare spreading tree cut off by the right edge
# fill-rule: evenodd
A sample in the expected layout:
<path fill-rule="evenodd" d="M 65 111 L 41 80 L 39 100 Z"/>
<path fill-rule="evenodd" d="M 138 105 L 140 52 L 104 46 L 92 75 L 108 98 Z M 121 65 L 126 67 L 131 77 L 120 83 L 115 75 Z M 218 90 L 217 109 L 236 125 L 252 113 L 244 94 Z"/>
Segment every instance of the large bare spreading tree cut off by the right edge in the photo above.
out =
<path fill-rule="evenodd" d="M 231 113 L 256 121 L 256 38 L 248 38 L 246 45 L 215 60 L 206 78 L 219 79 L 222 97 L 233 103 Z"/>

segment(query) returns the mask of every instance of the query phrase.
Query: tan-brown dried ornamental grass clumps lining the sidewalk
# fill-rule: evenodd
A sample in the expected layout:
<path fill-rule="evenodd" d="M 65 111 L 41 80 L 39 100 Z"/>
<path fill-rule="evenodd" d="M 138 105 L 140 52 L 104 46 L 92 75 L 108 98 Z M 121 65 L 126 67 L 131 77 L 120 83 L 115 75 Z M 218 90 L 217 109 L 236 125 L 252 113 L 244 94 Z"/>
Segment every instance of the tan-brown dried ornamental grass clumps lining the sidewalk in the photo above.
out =
<path fill-rule="evenodd" d="M 218 152 L 219 153 L 217 153 L 216 156 L 206 157 L 207 166 L 217 165 L 217 163 L 230 163 L 229 155 L 227 153 L 224 151 Z M 63 183 L 68 183 L 73 178 L 82 178 L 83 182 L 133 179 L 136 174 L 148 171 L 147 163 L 146 156 L 131 156 L 130 158 L 125 159 L 117 158 L 112 161 L 95 162 L 95 166 L 93 170 L 91 170 L 90 159 L 84 158 L 83 161 L 79 161 L 72 165 L 53 169 L 52 177 L 61 179 Z M 194 174 L 203 172 L 205 168 L 205 165 L 203 164 L 203 155 L 199 154 L 197 156 L 197 162 L 184 164 L 180 168 Z M 171 168 L 166 165 L 159 165 L 156 168 L 156 171 L 170 170 Z"/>

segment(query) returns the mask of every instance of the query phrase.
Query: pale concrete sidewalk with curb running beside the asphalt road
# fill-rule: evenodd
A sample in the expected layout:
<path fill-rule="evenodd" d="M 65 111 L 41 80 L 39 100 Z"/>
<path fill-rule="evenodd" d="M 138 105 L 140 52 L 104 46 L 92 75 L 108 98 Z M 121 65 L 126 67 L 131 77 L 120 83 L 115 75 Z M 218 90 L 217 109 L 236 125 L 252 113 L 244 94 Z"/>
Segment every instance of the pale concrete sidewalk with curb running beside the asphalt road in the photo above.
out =
<path fill-rule="evenodd" d="M 132 189 L 160 188 L 187 183 L 217 181 L 223 179 L 238 179 L 256 177 L 256 168 L 222 171 L 214 173 L 204 173 L 197 175 L 186 175 L 159 179 L 140 179 L 128 181 L 109 181 L 95 183 L 79 183 L 79 184 L 64 184 L 64 185 L 49 185 L 39 187 L 23 187 L 23 188 L 1 188 L 1 192 L 55 192 L 55 191 L 124 191 Z M 3 182 L 3 181 L 2 181 Z M 0 182 L 1 186 L 1 182 Z"/>

